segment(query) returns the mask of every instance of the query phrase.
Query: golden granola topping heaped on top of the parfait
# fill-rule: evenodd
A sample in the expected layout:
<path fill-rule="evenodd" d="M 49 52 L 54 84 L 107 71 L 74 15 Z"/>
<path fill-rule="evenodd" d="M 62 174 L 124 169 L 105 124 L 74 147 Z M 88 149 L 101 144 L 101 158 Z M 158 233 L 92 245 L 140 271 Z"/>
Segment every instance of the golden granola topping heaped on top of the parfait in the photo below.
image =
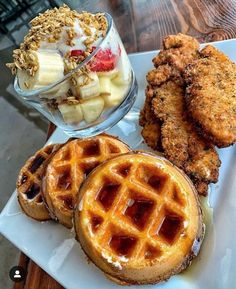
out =
<path fill-rule="evenodd" d="M 83 55 L 71 57 L 69 47 L 74 46 L 74 39 L 77 37 L 74 29 L 76 21 L 79 22 L 80 27 L 87 36 L 83 41 L 86 49 Z M 32 50 L 38 50 L 42 42 L 56 43 L 60 40 L 65 29 L 67 35 L 65 44 L 69 47 L 68 53 L 64 55 L 64 58 L 65 72 L 68 72 L 92 52 L 92 44 L 100 36 L 104 37 L 106 35 L 108 27 L 107 19 L 103 13 L 79 13 L 71 10 L 67 5 L 39 14 L 30 24 L 31 28 L 24 37 L 20 48 L 13 51 L 13 63 L 7 64 L 13 74 L 16 74 L 17 69 L 24 69 L 31 76 L 34 76 L 38 70 L 38 62 L 32 54 Z M 95 29 L 95 33 L 92 33 L 92 28 Z"/>

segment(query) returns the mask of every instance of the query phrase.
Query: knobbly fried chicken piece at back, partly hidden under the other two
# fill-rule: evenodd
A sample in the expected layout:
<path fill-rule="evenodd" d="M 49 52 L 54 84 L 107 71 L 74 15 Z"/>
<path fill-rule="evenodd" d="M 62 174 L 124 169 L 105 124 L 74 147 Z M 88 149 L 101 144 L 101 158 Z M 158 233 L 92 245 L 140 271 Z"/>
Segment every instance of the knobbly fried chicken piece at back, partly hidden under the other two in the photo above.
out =
<path fill-rule="evenodd" d="M 146 100 L 139 120 L 139 124 L 143 126 L 144 140 L 148 146 L 156 150 L 162 150 L 161 125 L 152 112 L 153 87 L 159 86 L 169 79 L 175 79 L 179 84 L 183 84 L 181 72 L 190 60 L 198 56 L 199 48 L 197 40 L 181 33 L 167 36 L 163 45 L 165 50 L 160 51 L 153 59 L 157 68 L 151 70 L 146 77 L 149 86 L 146 89 Z"/>

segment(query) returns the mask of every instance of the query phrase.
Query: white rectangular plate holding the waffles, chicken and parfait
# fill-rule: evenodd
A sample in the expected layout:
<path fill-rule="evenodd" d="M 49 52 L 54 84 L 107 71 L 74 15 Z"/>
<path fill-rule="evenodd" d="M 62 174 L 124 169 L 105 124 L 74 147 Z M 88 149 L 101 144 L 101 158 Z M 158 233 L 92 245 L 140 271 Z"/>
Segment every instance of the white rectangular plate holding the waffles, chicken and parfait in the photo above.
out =
<path fill-rule="evenodd" d="M 236 40 L 211 44 L 236 61 Z M 150 51 L 129 56 L 139 85 L 136 109 L 140 109 L 144 102 L 145 76 L 152 69 L 152 58 L 156 54 L 157 51 Z M 135 124 L 128 126 L 123 121 L 123 127 L 118 123 L 108 133 L 118 135 L 135 149 L 148 149 L 145 145 L 137 143 L 132 134 L 134 130 Z M 57 129 L 48 143 L 64 142 L 67 138 L 60 129 Z M 221 149 L 219 155 L 222 161 L 220 177 L 219 182 L 211 186 L 208 202 L 213 214 L 211 220 L 207 222 L 201 253 L 187 273 L 174 276 L 168 282 L 153 285 L 153 288 L 235 288 L 236 147 Z M 68 289 L 120 287 L 108 281 L 93 264 L 88 264 L 74 239 L 73 232 L 53 221 L 39 223 L 26 217 L 21 212 L 15 192 L 0 215 L 0 232 Z"/>

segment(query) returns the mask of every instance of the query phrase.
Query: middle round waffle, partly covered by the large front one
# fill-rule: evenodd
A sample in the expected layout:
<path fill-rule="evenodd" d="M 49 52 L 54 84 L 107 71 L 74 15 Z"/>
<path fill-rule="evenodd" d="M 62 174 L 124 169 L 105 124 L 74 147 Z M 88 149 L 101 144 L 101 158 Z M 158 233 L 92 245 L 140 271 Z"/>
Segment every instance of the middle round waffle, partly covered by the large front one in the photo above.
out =
<path fill-rule="evenodd" d="M 128 151 L 126 144 L 105 134 L 65 144 L 51 159 L 44 179 L 43 196 L 51 217 L 71 228 L 77 195 L 86 176 L 105 160 Z"/>

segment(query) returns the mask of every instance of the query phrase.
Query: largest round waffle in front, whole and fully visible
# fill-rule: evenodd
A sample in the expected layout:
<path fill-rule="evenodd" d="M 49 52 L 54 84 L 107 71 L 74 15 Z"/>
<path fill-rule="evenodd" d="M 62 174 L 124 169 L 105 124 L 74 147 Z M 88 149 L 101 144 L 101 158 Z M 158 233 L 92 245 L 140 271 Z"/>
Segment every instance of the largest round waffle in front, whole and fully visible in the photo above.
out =
<path fill-rule="evenodd" d="M 153 284 L 185 269 L 204 235 L 197 193 L 166 159 L 130 152 L 97 167 L 80 189 L 76 238 L 119 284 Z"/>

